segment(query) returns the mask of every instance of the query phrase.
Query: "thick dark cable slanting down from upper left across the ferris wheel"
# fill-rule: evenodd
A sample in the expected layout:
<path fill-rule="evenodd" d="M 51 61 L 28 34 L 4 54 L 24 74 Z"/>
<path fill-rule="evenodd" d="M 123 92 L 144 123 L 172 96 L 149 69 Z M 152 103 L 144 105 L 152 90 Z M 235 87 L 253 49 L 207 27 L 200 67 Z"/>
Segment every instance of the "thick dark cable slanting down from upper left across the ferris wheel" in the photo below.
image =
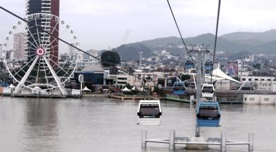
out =
<path fill-rule="evenodd" d="M 109 64 L 111 67 L 116 68 L 117 70 L 121 70 L 121 68 L 117 68 L 116 66 L 112 66 L 112 63 L 110 63 L 110 62 L 108 62 L 108 61 L 103 61 L 103 60 L 100 59 L 99 57 L 95 57 L 95 56 L 93 56 L 93 55 L 90 55 L 89 53 L 86 53 L 84 50 L 81 50 L 80 48 L 77 48 L 76 46 L 74 46 L 74 45 L 68 43 L 67 41 L 64 41 L 63 39 L 61 39 L 61 38 L 59 38 L 59 37 L 57 37 L 57 36 L 55 36 L 55 35 L 52 35 L 50 32 L 44 30 L 43 28 L 40 28 L 39 26 L 34 25 L 33 23 L 30 23 L 29 21 L 27 21 L 26 19 L 23 19 L 22 17 L 19 17 L 19 15 L 14 14 L 14 13 L 11 12 L 10 10 L 7 10 L 6 8 L 3 8 L 2 6 L 0 6 L 0 8 L 1 8 L 1 10 L 4 10 L 5 12 L 8 12 L 10 15 L 12 15 L 12 16 L 14 16 L 14 17 L 17 17 L 18 19 L 20 19 L 20 20 L 22 20 L 22 21 L 28 23 L 30 26 L 34 26 L 35 28 L 37 28 L 37 29 L 39 29 L 39 30 L 41 30 L 41 31 L 43 31 L 43 32 L 46 32 L 48 35 L 51 35 L 52 37 L 55 37 L 56 39 L 59 39 L 59 41 L 62 41 L 63 43 L 65 43 L 65 44 L 67 44 L 67 45 L 69 45 L 69 46 L 72 46 L 72 48 L 75 48 L 75 49 L 81 51 L 82 53 L 84 53 L 84 54 L 86 54 L 86 55 L 89 55 L 90 57 L 93 57 L 93 58 L 95 58 L 95 59 L 98 59 L 99 61 L 101 61 L 101 62 L 103 62 L 103 63 L 105 63 L 105 64 Z M 137 77 L 138 79 L 143 79 L 143 78 L 140 78 L 140 77 L 138 77 L 138 76 L 136 76 L 136 75 L 133 75 L 132 73 L 129 73 L 129 72 L 126 71 L 126 70 L 121 70 L 121 71 L 123 71 L 124 73 L 128 73 L 128 75 L 132 75 L 133 77 Z M 146 79 L 143 79 L 143 80 L 144 80 L 144 81 L 147 81 Z"/>

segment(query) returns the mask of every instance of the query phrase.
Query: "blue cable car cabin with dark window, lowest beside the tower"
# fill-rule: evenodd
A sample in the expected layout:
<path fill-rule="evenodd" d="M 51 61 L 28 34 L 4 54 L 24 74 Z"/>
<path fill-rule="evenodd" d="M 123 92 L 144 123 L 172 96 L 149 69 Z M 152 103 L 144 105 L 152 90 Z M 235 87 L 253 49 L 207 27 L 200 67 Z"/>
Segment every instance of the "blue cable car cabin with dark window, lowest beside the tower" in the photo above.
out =
<path fill-rule="evenodd" d="M 219 120 L 219 102 L 199 102 L 197 106 L 197 126 L 218 127 Z"/>

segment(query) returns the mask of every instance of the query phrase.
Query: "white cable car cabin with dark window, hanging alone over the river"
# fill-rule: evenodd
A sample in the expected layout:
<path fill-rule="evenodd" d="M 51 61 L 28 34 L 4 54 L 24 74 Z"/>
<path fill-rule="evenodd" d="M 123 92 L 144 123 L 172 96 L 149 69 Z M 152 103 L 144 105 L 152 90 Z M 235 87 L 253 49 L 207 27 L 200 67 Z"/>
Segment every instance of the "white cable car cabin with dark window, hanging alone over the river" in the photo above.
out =
<path fill-rule="evenodd" d="M 161 105 L 159 100 L 140 100 L 137 115 L 141 125 L 161 124 Z"/>

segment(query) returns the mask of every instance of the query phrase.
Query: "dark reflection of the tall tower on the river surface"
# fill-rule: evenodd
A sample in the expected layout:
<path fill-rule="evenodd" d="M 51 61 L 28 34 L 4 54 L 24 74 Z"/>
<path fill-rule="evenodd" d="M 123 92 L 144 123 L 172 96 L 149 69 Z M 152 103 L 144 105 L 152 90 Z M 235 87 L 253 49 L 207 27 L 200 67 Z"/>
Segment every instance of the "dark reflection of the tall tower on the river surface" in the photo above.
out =
<path fill-rule="evenodd" d="M 55 99 L 30 98 L 23 102 L 24 151 L 49 151 L 57 149 L 59 141 L 59 120 Z M 47 141 L 47 142 L 46 142 Z"/>

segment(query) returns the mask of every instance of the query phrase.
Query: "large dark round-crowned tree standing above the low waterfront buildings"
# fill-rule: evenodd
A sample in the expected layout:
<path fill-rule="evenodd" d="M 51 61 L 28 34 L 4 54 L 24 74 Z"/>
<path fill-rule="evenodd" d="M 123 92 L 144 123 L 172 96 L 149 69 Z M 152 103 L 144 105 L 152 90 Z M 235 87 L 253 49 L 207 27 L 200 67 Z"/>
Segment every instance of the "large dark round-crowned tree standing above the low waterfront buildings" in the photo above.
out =
<path fill-rule="evenodd" d="M 102 66 L 116 66 L 117 64 L 121 63 L 121 59 L 120 56 L 118 55 L 117 52 L 115 51 L 110 51 L 107 50 L 106 52 L 104 52 L 103 54 L 101 54 L 101 60 L 103 60 L 101 62 Z M 108 63 L 106 63 L 106 62 Z"/>

